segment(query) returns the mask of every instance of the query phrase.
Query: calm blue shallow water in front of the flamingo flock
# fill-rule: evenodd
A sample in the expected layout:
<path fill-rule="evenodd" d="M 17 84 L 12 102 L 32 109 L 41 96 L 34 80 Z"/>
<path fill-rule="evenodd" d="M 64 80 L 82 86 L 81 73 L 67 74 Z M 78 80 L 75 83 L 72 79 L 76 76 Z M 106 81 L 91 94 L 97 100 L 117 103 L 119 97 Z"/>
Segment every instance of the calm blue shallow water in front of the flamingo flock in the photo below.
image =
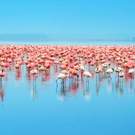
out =
<path fill-rule="evenodd" d="M 0 134 L 135 134 L 135 84 L 133 79 L 58 81 L 50 76 L 28 80 L 22 72 L 8 71 L 2 80 Z M 89 82 L 88 82 L 89 81 Z"/>

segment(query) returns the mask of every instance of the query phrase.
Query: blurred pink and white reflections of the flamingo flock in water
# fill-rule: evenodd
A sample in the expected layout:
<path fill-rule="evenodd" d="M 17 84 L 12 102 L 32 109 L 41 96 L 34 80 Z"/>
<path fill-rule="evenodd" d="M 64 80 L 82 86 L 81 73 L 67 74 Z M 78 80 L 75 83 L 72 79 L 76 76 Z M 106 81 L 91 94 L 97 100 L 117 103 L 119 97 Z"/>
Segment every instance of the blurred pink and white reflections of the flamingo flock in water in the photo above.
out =
<path fill-rule="evenodd" d="M 55 65 L 56 66 L 56 65 Z M 58 67 L 57 67 L 58 68 Z M 24 69 L 23 69 L 24 70 Z M 23 70 L 15 69 L 16 79 L 19 81 L 23 77 Z M 58 70 L 58 69 L 57 69 Z M 40 74 L 31 75 L 30 69 L 27 69 L 27 81 L 31 82 L 30 93 L 33 99 L 37 97 L 37 83 L 39 83 L 38 77 L 41 77 L 42 81 L 49 81 L 51 79 L 51 71 L 42 71 Z M 88 77 L 76 77 L 70 76 L 66 79 L 59 79 L 56 81 L 56 93 L 59 100 L 64 101 L 67 97 L 75 96 L 78 92 L 84 96 L 84 99 L 89 100 L 92 95 L 91 90 L 96 91 L 96 95 L 99 96 L 100 90 L 104 87 L 106 91 L 116 91 L 118 95 L 123 95 L 128 90 L 130 94 L 135 94 L 134 75 L 126 74 L 124 77 L 119 77 L 115 73 L 106 74 L 93 73 L 93 78 Z M 54 74 L 56 77 L 56 74 Z M 0 100 L 4 100 L 3 81 L 0 78 Z M 95 85 L 95 86 L 94 86 Z M 94 88 L 94 89 L 93 89 Z"/>

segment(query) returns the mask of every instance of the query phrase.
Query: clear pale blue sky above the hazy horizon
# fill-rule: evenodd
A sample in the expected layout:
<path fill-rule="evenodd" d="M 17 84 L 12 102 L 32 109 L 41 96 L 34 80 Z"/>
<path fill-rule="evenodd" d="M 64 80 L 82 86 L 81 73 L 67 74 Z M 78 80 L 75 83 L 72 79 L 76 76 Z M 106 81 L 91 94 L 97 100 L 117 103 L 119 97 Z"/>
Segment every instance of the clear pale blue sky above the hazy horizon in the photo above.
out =
<path fill-rule="evenodd" d="M 1 0 L 0 34 L 135 36 L 134 0 Z"/>

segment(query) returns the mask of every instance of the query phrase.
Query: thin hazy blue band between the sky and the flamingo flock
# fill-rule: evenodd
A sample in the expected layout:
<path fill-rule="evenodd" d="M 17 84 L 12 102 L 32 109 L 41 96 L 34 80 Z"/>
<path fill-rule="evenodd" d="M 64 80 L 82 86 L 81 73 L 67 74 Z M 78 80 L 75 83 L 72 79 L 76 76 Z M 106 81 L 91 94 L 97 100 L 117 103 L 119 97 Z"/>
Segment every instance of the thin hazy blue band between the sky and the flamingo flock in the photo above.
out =
<path fill-rule="evenodd" d="M 132 38 L 93 38 L 84 35 L 0 34 L 0 44 L 25 45 L 134 45 Z"/>

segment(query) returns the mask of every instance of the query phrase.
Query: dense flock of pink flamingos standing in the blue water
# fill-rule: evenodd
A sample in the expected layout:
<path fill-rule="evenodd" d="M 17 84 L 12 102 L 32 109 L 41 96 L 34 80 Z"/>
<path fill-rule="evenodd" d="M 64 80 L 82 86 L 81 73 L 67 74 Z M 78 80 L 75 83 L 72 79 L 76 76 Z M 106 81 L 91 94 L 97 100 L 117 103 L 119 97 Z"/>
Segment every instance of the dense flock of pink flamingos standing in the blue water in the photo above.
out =
<path fill-rule="evenodd" d="M 8 78 L 8 71 L 16 71 L 21 77 L 26 68 L 29 80 L 42 76 L 50 79 L 50 72 L 61 82 L 64 89 L 67 82 L 78 87 L 79 80 L 89 85 L 95 76 L 134 79 L 134 46 L 0 46 L 0 79 Z M 75 82 L 75 83 L 74 83 Z M 1 92 L 0 92 L 1 94 Z"/>

